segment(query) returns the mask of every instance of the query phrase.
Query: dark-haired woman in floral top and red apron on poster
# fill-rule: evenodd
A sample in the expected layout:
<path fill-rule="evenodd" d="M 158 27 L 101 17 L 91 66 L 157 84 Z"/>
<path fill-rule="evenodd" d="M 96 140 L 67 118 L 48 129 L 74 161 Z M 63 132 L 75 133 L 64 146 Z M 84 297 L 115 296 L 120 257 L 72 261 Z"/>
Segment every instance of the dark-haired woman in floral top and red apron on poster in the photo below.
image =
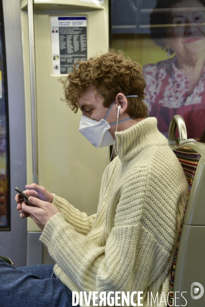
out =
<path fill-rule="evenodd" d="M 188 138 L 205 128 L 205 0 L 158 0 L 150 14 L 151 38 L 170 57 L 144 66 L 149 116 L 168 136 L 172 116 L 184 117 Z"/>

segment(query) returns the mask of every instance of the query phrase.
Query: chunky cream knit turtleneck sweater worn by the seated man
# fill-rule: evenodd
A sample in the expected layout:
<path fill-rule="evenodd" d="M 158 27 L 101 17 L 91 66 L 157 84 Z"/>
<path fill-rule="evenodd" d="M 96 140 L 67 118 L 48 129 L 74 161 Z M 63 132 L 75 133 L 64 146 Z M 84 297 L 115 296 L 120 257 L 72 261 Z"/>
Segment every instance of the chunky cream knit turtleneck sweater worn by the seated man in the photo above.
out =
<path fill-rule="evenodd" d="M 148 292 L 167 296 L 188 183 L 156 124 L 147 118 L 115 134 L 118 157 L 104 172 L 97 216 L 54 195 L 60 213 L 40 240 L 71 291 L 143 291 L 143 306 Z"/>

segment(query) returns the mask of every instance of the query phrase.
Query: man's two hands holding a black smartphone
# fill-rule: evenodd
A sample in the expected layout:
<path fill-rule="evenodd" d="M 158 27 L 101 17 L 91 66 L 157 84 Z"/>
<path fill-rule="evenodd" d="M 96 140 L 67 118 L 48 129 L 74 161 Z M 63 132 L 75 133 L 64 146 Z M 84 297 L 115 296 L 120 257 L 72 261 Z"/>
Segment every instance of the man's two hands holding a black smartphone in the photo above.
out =
<path fill-rule="evenodd" d="M 53 194 L 47 189 L 35 183 L 26 185 L 26 188 L 27 190 L 23 193 L 28 196 L 29 203 L 34 207 L 28 206 L 26 201 L 22 202 L 22 193 L 18 193 L 15 196 L 17 210 L 20 212 L 21 218 L 30 216 L 37 226 L 43 230 L 50 218 L 60 211 L 52 204 Z"/>

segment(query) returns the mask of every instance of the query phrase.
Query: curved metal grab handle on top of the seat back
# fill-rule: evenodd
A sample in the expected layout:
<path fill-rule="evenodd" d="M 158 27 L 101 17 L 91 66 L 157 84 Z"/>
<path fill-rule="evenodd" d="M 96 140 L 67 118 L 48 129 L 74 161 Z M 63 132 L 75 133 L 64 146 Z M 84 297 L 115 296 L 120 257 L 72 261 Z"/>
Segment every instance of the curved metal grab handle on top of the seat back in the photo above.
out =
<path fill-rule="evenodd" d="M 175 145 L 176 127 L 178 127 L 179 140 L 187 140 L 185 120 L 180 115 L 174 115 L 169 125 L 169 145 Z"/>

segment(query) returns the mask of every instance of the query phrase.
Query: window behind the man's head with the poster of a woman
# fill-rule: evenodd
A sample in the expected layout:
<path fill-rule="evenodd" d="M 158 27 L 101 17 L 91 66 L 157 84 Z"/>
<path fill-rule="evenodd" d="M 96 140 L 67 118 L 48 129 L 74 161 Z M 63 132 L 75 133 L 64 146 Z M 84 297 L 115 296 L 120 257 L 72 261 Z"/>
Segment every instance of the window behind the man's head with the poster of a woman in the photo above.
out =
<path fill-rule="evenodd" d="M 168 137 L 183 116 L 188 138 L 205 130 L 205 1 L 113 0 L 111 45 L 143 66 L 149 116 Z M 136 93 L 137 94 L 137 93 Z"/>

